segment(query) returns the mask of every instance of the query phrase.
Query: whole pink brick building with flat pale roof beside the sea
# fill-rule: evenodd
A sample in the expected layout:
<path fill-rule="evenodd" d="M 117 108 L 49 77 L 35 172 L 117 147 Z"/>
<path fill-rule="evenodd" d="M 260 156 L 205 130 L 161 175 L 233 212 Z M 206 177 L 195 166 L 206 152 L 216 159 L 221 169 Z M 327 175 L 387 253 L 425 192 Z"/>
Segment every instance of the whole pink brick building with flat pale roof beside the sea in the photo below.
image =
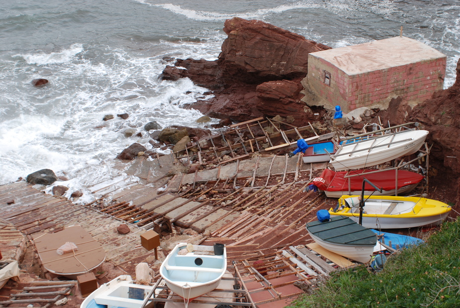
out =
<path fill-rule="evenodd" d="M 442 90 L 446 55 L 407 37 L 313 52 L 308 84 L 321 101 L 345 112 L 363 106 L 386 109 L 401 96 L 411 104 Z"/>

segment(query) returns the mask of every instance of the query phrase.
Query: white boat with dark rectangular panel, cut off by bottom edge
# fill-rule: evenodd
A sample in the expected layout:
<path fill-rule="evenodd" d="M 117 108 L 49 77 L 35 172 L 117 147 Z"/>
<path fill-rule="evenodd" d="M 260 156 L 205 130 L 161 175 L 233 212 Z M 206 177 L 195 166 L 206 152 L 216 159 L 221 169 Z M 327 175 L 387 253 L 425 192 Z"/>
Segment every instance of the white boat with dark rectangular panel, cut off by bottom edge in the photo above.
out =
<path fill-rule="evenodd" d="M 92 292 L 80 308 L 140 308 L 153 288 L 137 285 L 131 276 L 121 275 Z"/>

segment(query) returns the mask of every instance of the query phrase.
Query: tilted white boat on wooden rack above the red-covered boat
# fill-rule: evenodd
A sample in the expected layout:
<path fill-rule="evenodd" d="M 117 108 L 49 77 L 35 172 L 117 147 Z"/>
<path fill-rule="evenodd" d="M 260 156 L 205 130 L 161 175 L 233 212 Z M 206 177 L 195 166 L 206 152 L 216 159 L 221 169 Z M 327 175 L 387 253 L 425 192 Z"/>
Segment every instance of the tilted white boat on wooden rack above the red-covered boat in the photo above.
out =
<path fill-rule="evenodd" d="M 414 154 L 427 135 L 427 130 L 408 129 L 359 141 L 348 140 L 339 146 L 329 162 L 336 171 L 375 166 Z"/>

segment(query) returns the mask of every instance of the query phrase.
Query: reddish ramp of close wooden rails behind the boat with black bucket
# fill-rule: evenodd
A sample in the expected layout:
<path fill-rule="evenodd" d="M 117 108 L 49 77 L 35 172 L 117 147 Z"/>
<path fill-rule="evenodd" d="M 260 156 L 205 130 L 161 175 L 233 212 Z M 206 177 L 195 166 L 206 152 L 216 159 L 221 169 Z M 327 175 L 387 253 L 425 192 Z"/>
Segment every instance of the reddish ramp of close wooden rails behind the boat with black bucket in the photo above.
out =
<path fill-rule="evenodd" d="M 308 184 L 287 185 L 257 202 L 243 200 L 235 206 L 241 210 L 238 218 L 212 232 L 208 241 L 227 244 L 227 254 L 233 260 L 305 243 L 310 239 L 305 229 L 307 217 L 325 205 L 322 195 L 304 192 Z"/>

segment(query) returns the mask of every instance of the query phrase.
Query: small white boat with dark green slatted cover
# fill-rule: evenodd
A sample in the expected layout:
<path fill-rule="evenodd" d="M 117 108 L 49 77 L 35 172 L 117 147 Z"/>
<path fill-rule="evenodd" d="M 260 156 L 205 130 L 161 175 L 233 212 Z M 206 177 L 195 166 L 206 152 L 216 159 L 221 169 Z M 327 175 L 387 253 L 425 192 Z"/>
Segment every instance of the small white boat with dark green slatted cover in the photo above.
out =
<path fill-rule="evenodd" d="M 345 216 L 307 222 L 306 228 L 311 238 L 324 249 L 361 263 L 370 261 L 377 243 L 374 232 Z"/>

